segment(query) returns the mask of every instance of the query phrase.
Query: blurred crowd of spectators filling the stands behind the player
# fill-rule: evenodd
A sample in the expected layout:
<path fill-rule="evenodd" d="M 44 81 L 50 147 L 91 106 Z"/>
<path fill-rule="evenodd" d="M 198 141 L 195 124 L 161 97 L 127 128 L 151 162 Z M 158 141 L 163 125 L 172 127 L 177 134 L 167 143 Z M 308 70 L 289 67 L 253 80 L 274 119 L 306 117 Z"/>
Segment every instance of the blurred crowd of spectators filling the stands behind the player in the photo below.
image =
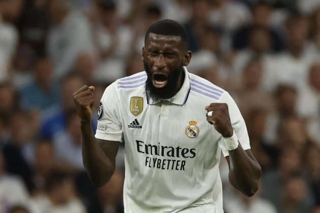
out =
<path fill-rule="evenodd" d="M 94 85 L 96 118 L 163 18 L 188 32 L 188 71 L 234 97 L 263 169 L 248 198 L 221 159 L 225 212 L 320 212 L 320 0 L 0 0 L 0 213 L 123 212 L 123 147 L 95 188 L 72 94 Z"/>

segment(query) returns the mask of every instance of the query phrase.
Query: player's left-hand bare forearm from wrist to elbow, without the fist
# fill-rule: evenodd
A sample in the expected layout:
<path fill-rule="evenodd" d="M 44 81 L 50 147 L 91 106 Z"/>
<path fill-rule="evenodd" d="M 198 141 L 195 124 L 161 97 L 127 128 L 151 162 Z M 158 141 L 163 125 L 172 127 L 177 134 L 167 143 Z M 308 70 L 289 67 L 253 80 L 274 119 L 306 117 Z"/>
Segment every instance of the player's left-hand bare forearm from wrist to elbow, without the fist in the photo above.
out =
<path fill-rule="evenodd" d="M 81 122 L 81 131 L 83 165 L 91 182 L 98 187 L 103 186 L 114 173 L 114 163 L 97 143 L 90 122 Z"/>

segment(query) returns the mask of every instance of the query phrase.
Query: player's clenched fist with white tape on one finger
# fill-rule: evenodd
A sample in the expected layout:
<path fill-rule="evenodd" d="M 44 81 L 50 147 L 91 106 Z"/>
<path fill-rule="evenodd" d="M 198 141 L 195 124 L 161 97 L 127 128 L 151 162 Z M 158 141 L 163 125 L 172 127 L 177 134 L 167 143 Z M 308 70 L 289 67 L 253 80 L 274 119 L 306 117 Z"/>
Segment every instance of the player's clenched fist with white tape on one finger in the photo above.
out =
<path fill-rule="evenodd" d="M 205 107 L 205 110 L 207 112 L 213 112 L 212 116 L 208 116 L 208 113 L 206 113 L 207 121 L 212 124 L 223 137 L 231 137 L 233 135 L 227 103 L 210 103 L 209 106 Z"/>

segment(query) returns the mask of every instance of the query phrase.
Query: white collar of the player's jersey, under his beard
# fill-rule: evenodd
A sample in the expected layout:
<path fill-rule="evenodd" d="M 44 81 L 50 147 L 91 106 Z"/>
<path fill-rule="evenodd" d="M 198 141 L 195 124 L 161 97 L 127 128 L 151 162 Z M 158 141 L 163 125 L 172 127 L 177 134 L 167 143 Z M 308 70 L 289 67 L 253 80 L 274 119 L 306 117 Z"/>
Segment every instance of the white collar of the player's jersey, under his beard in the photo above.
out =
<path fill-rule="evenodd" d="M 185 75 L 184 75 L 184 81 L 183 81 L 182 87 L 177 92 L 177 94 L 175 94 L 173 100 L 170 101 L 170 102 L 177 104 L 177 105 L 185 104 L 185 102 L 188 99 L 189 92 L 190 92 L 189 73 L 188 73 L 185 66 L 183 66 L 183 72 Z M 151 98 L 148 97 L 148 95 L 147 95 L 147 101 L 148 101 L 148 104 L 155 104 L 155 103 L 159 102 L 159 101 L 153 101 Z"/>

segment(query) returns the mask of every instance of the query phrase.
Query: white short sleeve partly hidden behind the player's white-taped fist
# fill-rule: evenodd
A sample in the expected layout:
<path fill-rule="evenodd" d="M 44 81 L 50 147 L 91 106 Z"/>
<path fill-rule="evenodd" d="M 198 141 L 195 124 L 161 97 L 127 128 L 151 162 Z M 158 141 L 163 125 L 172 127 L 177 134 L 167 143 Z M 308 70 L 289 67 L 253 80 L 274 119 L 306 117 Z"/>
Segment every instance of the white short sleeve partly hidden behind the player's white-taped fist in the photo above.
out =
<path fill-rule="evenodd" d="M 245 125 L 244 119 L 240 113 L 240 110 L 236 102 L 228 92 L 222 94 L 221 98 L 219 99 L 219 102 L 228 104 L 231 124 L 238 137 L 238 141 L 244 150 L 250 149 L 251 147 L 247 127 Z M 223 140 L 223 137 L 221 137 L 219 140 L 219 147 L 223 153 L 223 156 L 229 156 L 229 152 L 226 147 L 225 141 Z"/>

